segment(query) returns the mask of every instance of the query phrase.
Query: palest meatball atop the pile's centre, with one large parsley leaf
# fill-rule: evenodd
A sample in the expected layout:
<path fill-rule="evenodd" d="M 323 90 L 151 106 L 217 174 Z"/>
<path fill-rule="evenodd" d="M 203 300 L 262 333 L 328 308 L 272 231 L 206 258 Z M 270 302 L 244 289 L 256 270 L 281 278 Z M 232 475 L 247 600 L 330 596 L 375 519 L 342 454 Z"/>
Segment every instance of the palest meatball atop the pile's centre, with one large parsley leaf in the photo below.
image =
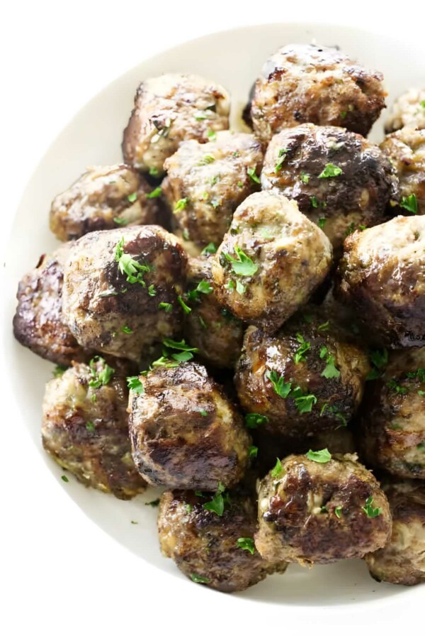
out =
<path fill-rule="evenodd" d="M 276 331 L 331 268 L 328 238 L 295 201 L 257 192 L 239 205 L 212 261 L 217 300 L 235 316 Z"/>

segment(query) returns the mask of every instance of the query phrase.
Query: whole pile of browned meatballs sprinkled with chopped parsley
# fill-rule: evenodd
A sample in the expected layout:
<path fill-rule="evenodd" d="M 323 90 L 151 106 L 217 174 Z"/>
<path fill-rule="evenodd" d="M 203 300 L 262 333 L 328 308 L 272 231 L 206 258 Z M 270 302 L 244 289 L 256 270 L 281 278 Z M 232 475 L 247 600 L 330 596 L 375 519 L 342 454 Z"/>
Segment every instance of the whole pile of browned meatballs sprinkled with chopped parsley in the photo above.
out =
<path fill-rule="evenodd" d="M 425 89 L 376 146 L 382 79 L 284 46 L 251 132 L 218 84 L 145 80 L 123 163 L 57 195 L 64 242 L 19 283 L 16 339 L 57 365 L 45 450 L 120 499 L 162 488 L 196 583 L 354 558 L 425 581 Z"/>

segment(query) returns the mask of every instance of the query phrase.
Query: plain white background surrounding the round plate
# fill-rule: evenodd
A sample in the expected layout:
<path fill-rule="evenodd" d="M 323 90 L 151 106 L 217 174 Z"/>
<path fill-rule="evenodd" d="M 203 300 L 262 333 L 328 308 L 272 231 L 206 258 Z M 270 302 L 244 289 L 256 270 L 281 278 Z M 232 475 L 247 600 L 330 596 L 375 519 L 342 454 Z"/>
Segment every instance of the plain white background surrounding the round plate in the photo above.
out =
<path fill-rule="evenodd" d="M 9 1 L 0 13 L 2 242 L 8 241 L 21 190 L 55 135 L 99 89 L 144 57 L 252 23 L 335 22 L 423 37 L 423 4 L 421 9 L 419 2 L 391 6 L 372 0 Z M 400 72 L 402 67 L 400 60 Z M 25 391 L 25 385 L 16 387 L 18 399 L 25 399 Z M 360 620 L 333 609 L 310 624 L 285 608 L 224 595 L 218 608 L 217 597 L 201 586 L 171 590 L 162 572 L 136 561 L 61 496 L 13 407 L 3 410 L 2 429 L 0 629 L 5 636 L 30 630 L 84 636 L 130 630 L 321 634 L 336 625 L 347 634 Z M 123 574 L 128 571 L 132 576 Z M 414 608 L 398 617 L 379 612 L 373 624 L 368 619 L 366 633 L 384 627 L 392 633 L 398 621 L 405 629 L 416 623 L 415 615 L 419 620 Z M 423 624 L 419 620 L 421 629 Z"/>

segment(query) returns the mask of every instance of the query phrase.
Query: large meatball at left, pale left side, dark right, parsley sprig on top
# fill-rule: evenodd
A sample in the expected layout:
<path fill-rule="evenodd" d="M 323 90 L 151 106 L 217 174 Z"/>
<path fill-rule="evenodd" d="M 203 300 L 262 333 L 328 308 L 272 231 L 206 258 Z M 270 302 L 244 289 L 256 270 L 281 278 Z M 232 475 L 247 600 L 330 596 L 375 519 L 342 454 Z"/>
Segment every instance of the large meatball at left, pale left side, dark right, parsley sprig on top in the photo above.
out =
<path fill-rule="evenodd" d="M 64 270 L 63 309 L 81 346 L 138 361 L 182 327 L 186 254 L 149 225 L 79 238 Z"/>

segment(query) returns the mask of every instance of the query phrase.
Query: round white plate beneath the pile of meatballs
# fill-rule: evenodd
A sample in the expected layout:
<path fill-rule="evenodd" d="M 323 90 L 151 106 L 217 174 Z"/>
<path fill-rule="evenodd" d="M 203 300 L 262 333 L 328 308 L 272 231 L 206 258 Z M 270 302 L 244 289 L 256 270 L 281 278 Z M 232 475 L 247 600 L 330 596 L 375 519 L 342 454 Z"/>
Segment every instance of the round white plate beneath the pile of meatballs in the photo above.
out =
<path fill-rule="evenodd" d="M 239 126 L 251 84 L 268 55 L 288 43 L 320 43 L 339 45 L 346 53 L 385 75 L 388 103 L 405 89 L 424 85 L 424 44 L 399 42 L 354 28 L 283 24 L 249 26 L 224 31 L 193 40 L 166 51 L 115 79 L 86 104 L 57 137 L 40 161 L 23 194 L 16 212 L 9 250 L 6 254 L 6 324 L 5 353 L 11 384 L 24 383 L 19 408 L 28 434 L 52 473 L 62 472 L 42 451 L 40 444 L 40 405 L 45 382 L 52 377 L 52 364 L 24 349 L 11 335 L 11 320 L 16 307 L 16 287 L 21 276 L 37 263 L 41 253 L 55 248 L 57 241 L 48 228 L 48 212 L 52 198 L 75 180 L 84 168 L 94 164 L 111 164 L 122 159 L 120 143 L 127 124 L 135 90 L 140 80 L 162 72 L 195 72 L 223 84 L 232 94 L 232 125 Z M 415 48 L 415 47 L 421 48 Z M 400 63 L 401 61 L 401 63 Z M 385 115 L 384 115 L 385 116 Z M 380 141 L 382 118 L 375 124 L 370 138 Z M 183 576 L 170 559 L 159 552 L 156 509 L 145 502 L 157 497 L 157 491 L 123 502 L 96 490 L 86 489 L 72 476 L 63 484 L 65 493 L 84 510 L 99 529 L 107 532 L 134 554 L 176 577 Z M 138 525 L 132 525 L 137 520 Z M 212 594 L 212 592 L 210 592 Z M 363 561 L 341 561 L 328 566 L 302 569 L 291 565 L 283 576 L 268 577 L 263 583 L 239 593 L 263 603 L 324 606 L 373 603 L 387 599 L 393 603 L 400 595 L 409 595 L 409 603 L 419 588 L 403 588 L 376 583 L 370 578 Z M 213 598 L 211 596 L 211 598 Z M 215 595 L 215 603 L 217 595 Z M 364 605 L 363 605 L 364 606 Z M 353 608 L 351 608 L 353 609 Z"/>

